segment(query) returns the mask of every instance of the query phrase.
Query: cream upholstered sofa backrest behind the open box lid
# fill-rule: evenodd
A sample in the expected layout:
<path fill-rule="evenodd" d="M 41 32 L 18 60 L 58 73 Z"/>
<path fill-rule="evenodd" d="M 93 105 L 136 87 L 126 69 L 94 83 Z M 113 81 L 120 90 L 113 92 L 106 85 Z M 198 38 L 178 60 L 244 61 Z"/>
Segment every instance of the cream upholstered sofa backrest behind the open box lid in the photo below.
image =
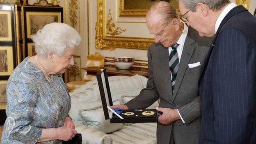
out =
<path fill-rule="evenodd" d="M 141 75 L 108 77 L 112 101 L 121 101 L 121 96 L 137 96 L 146 87 L 147 78 Z M 82 122 L 80 110 L 95 110 L 102 106 L 97 80 L 85 83 L 78 89 L 71 91 L 71 110 L 69 116 L 75 122 Z"/>

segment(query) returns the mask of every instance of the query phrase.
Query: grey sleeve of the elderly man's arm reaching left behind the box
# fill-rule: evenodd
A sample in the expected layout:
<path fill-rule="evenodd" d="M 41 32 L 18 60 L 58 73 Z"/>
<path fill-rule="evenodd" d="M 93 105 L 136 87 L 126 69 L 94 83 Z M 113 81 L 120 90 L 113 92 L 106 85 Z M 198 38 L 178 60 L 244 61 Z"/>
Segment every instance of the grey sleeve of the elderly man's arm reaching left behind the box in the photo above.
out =
<path fill-rule="evenodd" d="M 158 91 L 154 83 L 153 67 L 152 67 L 152 57 L 150 49 L 148 50 L 148 82 L 146 88 L 142 89 L 138 96 L 128 101 L 125 105 L 129 109 L 144 109 L 152 105 L 159 98 Z"/>

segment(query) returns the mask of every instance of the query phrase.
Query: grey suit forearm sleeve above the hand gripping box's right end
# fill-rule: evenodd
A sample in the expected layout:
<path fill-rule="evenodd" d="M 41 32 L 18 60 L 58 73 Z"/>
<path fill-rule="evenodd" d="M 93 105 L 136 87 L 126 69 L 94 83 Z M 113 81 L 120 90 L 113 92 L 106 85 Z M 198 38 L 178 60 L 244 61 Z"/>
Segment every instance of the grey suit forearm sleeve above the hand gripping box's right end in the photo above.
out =
<path fill-rule="evenodd" d="M 200 97 L 196 97 L 192 102 L 178 109 L 182 119 L 187 125 L 201 117 L 201 101 Z"/>

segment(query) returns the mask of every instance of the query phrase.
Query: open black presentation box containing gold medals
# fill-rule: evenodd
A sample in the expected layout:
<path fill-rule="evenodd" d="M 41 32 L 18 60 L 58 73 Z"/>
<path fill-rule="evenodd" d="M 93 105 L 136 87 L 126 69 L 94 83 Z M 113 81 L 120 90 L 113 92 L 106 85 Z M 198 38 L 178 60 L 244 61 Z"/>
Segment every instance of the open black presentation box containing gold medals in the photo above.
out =
<path fill-rule="evenodd" d="M 155 109 L 140 109 L 140 110 L 123 110 L 119 115 L 123 119 L 119 118 L 116 114 L 112 113 L 107 107 L 113 105 L 110 86 L 107 79 L 106 69 L 98 71 L 97 80 L 101 94 L 101 102 L 105 119 L 110 119 L 110 123 L 152 123 L 158 122 L 158 111 Z"/>

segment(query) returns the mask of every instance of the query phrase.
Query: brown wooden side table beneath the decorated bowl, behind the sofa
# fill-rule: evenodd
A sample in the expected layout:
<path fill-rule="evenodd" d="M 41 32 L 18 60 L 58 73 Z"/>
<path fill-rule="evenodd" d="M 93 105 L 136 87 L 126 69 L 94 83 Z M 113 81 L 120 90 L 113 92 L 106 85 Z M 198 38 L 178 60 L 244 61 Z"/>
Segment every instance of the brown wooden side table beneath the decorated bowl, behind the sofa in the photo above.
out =
<path fill-rule="evenodd" d="M 103 69 L 103 67 L 85 67 L 82 68 L 84 70 L 87 71 L 87 74 L 90 75 L 96 75 L 96 73 L 100 70 Z M 113 76 L 113 75 L 126 75 L 126 76 L 133 76 L 133 75 L 142 75 L 145 77 L 148 77 L 148 72 L 146 72 L 146 70 L 144 71 L 136 71 L 136 67 L 132 67 L 131 70 L 127 70 L 127 71 L 119 71 L 117 70 L 114 66 L 107 66 L 106 70 L 107 70 L 107 76 Z"/>

